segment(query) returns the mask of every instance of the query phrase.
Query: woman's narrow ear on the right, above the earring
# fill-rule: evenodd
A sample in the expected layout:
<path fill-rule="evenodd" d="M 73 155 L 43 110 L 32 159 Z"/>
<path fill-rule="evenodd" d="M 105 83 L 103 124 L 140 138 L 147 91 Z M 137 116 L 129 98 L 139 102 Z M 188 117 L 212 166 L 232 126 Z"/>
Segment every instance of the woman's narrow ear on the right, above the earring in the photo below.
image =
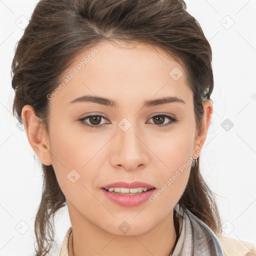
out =
<path fill-rule="evenodd" d="M 211 116 L 213 112 L 213 105 L 212 101 L 210 99 L 206 99 L 202 102 L 203 105 L 203 118 L 201 122 L 201 127 L 198 135 L 195 137 L 194 141 L 194 151 L 199 150 L 201 152 L 202 146 L 204 144 L 204 141 L 206 139 L 208 127 L 211 122 Z M 195 152 L 194 152 L 195 153 Z"/>

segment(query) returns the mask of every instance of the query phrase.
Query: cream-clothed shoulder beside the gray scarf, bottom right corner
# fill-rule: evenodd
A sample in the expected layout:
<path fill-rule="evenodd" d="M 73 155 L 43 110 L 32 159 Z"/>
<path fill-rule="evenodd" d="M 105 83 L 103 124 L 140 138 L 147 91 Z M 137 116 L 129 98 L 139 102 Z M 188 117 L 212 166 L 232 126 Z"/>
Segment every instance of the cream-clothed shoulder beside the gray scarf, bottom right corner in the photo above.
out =
<path fill-rule="evenodd" d="M 217 235 L 226 256 L 254 256 L 256 246 L 253 243 L 237 240 L 224 234 Z"/>

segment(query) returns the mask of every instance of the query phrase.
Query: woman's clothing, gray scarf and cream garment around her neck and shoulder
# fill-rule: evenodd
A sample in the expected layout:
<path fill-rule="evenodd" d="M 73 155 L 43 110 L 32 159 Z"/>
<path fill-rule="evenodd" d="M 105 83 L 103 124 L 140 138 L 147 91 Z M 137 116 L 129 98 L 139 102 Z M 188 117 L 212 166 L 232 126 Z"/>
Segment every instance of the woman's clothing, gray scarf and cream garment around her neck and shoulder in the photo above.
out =
<path fill-rule="evenodd" d="M 178 239 L 174 245 L 172 256 L 255 256 L 256 246 L 252 243 L 236 240 L 223 234 L 214 232 L 188 209 L 179 207 L 173 209 L 178 219 Z M 193 236 L 192 236 L 193 234 Z M 68 248 L 72 246 L 72 227 L 63 239 L 59 256 L 68 255 Z M 69 249 L 70 250 L 70 249 Z M 255 253 L 255 254 L 254 254 Z M 73 255 L 72 255 L 73 256 Z"/>

